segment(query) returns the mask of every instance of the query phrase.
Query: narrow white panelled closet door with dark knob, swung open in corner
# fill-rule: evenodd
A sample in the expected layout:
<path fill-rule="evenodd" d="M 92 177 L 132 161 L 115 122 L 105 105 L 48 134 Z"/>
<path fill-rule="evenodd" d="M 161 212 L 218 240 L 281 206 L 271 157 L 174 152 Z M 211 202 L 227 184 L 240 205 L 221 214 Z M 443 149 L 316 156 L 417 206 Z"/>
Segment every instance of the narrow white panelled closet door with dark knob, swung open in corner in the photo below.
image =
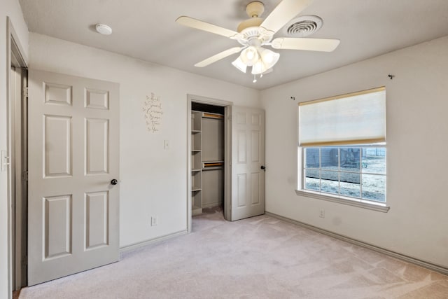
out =
<path fill-rule="evenodd" d="M 265 111 L 232 106 L 231 221 L 265 214 Z"/>

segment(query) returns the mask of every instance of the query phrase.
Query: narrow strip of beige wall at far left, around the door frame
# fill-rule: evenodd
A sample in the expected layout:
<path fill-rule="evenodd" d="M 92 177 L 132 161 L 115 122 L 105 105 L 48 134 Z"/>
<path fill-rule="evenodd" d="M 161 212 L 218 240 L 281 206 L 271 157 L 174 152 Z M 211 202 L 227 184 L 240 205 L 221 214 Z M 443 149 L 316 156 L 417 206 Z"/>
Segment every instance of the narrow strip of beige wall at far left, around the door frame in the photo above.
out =
<path fill-rule="evenodd" d="M 0 150 L 7 149 L 6 140 L 6 86 L 8 76 L 7 21 L 9 17 L 25 56 L 28 55 L 28 29 L 22 17 L 19 1 L 0 1 Z M 6 172 L 0 171 L 0 298 L 8 298 L 8 198 Z"/>

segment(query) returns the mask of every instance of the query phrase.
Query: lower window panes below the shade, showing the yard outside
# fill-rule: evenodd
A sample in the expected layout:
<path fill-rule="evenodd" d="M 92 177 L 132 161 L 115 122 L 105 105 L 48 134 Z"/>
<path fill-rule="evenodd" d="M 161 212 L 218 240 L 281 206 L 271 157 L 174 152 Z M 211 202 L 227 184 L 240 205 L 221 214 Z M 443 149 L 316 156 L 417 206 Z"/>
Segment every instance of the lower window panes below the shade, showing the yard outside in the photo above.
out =
<path fill-rule="evenodd" d="M 386 202 L 386 148 L 304 148 L 303 189 L 360 200 Z"/>

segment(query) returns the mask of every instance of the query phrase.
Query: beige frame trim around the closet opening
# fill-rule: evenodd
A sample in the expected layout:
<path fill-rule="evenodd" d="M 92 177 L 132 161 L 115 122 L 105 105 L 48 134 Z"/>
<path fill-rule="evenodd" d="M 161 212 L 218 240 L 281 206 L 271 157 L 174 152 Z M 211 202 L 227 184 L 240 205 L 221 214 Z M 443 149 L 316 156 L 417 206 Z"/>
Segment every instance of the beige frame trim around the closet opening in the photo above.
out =
<path fill-rule="evenodd" d="M 233 102 L 224 101 L 222 99 L 213 99 L 210 97 L 202 97 L 200 95 L 187 95 L 187 229 L 191 232 L 191 103 L 208 104 L 213 106 L 224 107 L 224 218 L 230 217 L 230 209 L 232 204 L 232 127 L 230 116 L 232 116 Z"/>

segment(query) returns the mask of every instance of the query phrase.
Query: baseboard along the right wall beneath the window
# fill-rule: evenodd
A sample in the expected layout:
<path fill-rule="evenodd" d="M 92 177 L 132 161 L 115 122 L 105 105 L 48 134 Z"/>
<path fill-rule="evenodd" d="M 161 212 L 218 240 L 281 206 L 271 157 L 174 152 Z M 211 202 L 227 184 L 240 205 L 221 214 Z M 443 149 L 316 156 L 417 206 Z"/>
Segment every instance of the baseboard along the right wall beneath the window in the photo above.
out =
<path fill-rule="evenodd" d="M 329 230 L 323 230 L 322 228 L 317 228 L 316 226 L 309 225 L 307 223 L 302 223 L 300 221 L 296 221 L 296 220 L 293 220 L 293 219 L 290 219 L 290 218 L 287 218 L 287 217 L 283 217 L 283 216 L 280 216 L 280 215 L 277 215 L 277 214 L 274 214 L 274 213 L 270 213 L 268 211 L 266 211 L 265 214 L 267 216 L 272 216 L 274 218 L 286 221 L 288 223 L 293 223 L 293 224 L 298 225 L 298 226 L 300 226 L 302 228 L 308 228 L 309 230 L 314 230 L 315 232 L 320 232 L 323 235 L 328 235 L 330 237 L 334 237 L 336 239 L 340 239 L 342 241 L 349 242 L 351 244 L 362 246 L 362 247 L 365 247 L 367 249 L 371 249 L 373 251 L 377 251 L 379 253 L 384 253 L 384 254 L 386 254 L 388 256 L 392 256 L 393 258 L 398 258 L 400 260 L 404 260 L 405 262 L 413 263 L 413 264 L 419 265 L 421 267 L 426 267 L 426 269 L 433 270 L 435 272 L 440 272 L 442 274 L 448 275 L 448 268 L 447 267 L 443 267 L 441 265 L 435 265 L 433 263 L 428 263 L 428 262 L 426 262 L 424 260 L 419 260 L 417 258 L 412 258 L 410 256 L 405 256 L 405 255 L 403 255 L 401 253 L 397 253 L 395 251 L 390 251 L 388 249 L 384 249 L 384 248 L 381 248 L 381 247 L 378 247 L 378 246 L 374 246 L 372 244 L 361 242 L 361 241 L 358 241 L 357 239 L 352 239 L 351 237 L 346 237 L 344 235 L 339 235 L 339 234 L 337 234 L 335 232 L 330 232 Z"/>

